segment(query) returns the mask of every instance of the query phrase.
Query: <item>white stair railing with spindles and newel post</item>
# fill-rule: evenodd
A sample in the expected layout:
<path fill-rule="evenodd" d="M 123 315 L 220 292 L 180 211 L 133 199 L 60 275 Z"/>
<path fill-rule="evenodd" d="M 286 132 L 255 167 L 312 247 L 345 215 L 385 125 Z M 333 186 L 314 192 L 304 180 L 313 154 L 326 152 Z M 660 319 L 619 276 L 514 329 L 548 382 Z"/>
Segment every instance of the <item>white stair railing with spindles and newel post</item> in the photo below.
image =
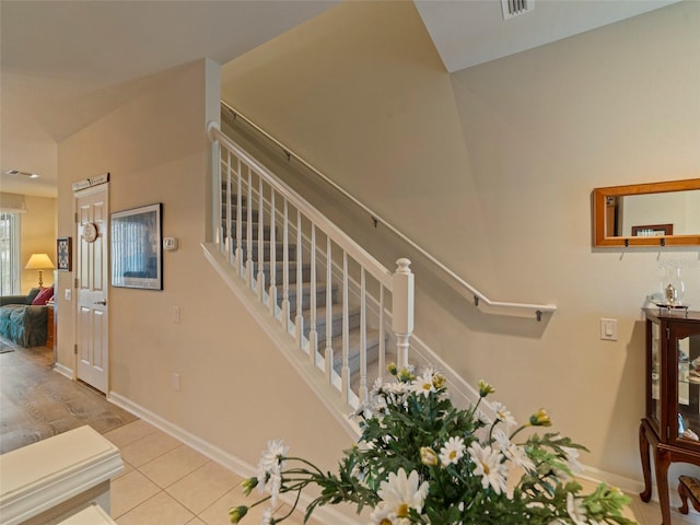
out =
<path fill-rule="evenodd" d="M 208 132 L 217 249 L 328 384 L 359 406 L 387 361 L 408 364 L 410 261 L 388 270 L 217 122 Z"/>

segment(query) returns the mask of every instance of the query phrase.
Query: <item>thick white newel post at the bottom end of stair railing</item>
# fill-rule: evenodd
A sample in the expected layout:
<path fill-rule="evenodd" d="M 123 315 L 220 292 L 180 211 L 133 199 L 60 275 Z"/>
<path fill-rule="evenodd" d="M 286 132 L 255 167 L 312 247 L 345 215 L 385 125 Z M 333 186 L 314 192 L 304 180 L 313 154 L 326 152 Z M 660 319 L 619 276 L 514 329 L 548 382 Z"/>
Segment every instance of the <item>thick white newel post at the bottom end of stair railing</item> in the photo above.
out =
<path fill-rule="evenodd" d="M 399 368 L 408 365 L 408 340 L 413 332 L 413 273 L 409 259 L 396 261 L 392 277 L 392 329 L 396 335 L 396 360 Z"/>

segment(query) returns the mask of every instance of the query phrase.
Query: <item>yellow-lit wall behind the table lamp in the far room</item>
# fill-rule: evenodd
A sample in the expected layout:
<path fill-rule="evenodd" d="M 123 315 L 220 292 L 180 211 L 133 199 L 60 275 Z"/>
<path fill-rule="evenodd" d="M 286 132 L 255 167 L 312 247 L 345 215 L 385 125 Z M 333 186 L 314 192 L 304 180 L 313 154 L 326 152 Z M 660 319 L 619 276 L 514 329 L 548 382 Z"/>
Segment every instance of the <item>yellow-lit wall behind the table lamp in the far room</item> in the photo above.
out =
<path fill-rule="evenodd" d="M 32 254 L 48 255 L 56 266 L 56 199 L 49 197 L 25 196 L 26 213 L 22 213 L 22 247 L 20 262 L 22 264 L 21 290 L 26 293 L 38 287 L 37 270 L 25 270 L 24 265 Z M 44 287 L 54 282 L 54 270 L 42 270 Z"/>

